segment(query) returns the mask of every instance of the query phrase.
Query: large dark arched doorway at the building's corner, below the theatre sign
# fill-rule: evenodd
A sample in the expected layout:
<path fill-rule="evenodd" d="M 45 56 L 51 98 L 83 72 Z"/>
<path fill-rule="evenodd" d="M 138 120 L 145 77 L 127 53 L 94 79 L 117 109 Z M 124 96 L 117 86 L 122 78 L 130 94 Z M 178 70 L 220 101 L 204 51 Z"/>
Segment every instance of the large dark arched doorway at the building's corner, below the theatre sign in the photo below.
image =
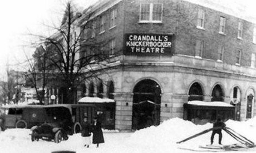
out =
<path fill-rule="evenodd" d="M 132 129 L 160 124 L 161 89 L 150 79 L 141 80 L 133 90 Z"/>

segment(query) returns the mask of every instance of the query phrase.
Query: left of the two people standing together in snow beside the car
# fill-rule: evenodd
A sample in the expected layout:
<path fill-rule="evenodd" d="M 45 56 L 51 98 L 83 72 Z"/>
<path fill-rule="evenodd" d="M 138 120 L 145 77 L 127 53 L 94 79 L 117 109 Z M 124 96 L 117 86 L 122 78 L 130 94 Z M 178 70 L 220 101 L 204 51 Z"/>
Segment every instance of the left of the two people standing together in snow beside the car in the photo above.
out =
<path fill-rule="evenodd" d="M 91 144 L 91 125 L 88 123 L 88 119 L 85 116 L 82 123 L 81 136 L 85 137 L 85 147 L 89 147 Z"/>

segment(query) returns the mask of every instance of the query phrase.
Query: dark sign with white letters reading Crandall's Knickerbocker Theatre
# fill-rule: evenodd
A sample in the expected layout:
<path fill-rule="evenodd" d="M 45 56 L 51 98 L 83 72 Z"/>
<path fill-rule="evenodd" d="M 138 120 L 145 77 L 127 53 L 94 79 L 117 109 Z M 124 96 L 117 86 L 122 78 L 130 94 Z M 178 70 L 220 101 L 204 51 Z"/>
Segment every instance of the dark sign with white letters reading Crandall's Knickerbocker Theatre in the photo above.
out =
<path fill-rule="evenodd" d="M 125 34 L 125 55 L 171 55 L 172 34 Z"/>

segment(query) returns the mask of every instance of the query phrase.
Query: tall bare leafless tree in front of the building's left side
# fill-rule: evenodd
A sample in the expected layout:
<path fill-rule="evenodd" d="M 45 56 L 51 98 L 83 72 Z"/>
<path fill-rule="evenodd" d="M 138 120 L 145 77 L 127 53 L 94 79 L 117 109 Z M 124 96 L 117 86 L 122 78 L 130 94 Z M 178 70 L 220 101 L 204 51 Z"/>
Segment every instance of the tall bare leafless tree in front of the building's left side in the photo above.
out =
<path fill-rule="evenodd" d="M 83 14 L 76 13 L 72 3 L 67 2 L 61 26 L 52 27 L 56 33 L 51 37 L 37 35 L 40 44 L 45 45 L 48 69 L 61 81 L 66 95 L 63 103 L 76 103 L 76 90 L 81 81 L 98 78 L 97 70 L 104 73 L 109 63 L 110 53 L 105 50 L 109 41 L 92 37 L 92 30 L 97 28 L 92 16 L 90 9 Z"/>

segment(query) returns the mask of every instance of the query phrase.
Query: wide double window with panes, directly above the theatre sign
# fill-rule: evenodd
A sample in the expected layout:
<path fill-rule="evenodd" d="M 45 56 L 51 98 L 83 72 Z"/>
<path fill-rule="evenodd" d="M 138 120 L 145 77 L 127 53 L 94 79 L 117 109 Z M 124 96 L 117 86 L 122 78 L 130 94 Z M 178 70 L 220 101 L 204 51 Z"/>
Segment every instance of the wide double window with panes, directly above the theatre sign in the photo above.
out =
<path fill-rule="evenodd" d="M 163 4 L 161 3 L 141 3 L 140 22 L 161 23 L 163 18 Z"/>

